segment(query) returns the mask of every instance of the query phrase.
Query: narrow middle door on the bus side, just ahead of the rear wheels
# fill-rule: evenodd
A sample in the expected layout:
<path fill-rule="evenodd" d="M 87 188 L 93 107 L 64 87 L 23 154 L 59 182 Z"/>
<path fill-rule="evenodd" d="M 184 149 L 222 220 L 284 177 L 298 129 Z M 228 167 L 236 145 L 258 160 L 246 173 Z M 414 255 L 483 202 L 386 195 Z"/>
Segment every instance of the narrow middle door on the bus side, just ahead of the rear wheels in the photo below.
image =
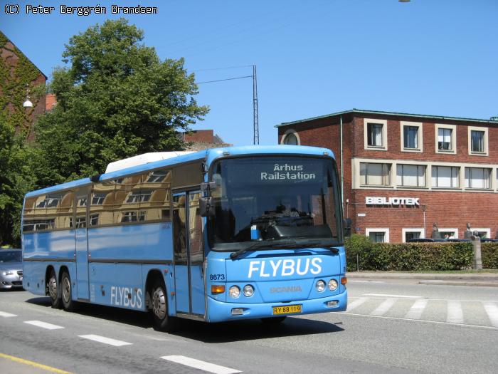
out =
<path fill-rule="evenodd" d="M 76 283 L 76 295 L 78 298 L 88 299 L 89 281 L 88 281 L 88 194 L 90 187 L 78 189 L 75 194 L 75 241 L 76 241 L 76 279 L 71 281 Z"/>

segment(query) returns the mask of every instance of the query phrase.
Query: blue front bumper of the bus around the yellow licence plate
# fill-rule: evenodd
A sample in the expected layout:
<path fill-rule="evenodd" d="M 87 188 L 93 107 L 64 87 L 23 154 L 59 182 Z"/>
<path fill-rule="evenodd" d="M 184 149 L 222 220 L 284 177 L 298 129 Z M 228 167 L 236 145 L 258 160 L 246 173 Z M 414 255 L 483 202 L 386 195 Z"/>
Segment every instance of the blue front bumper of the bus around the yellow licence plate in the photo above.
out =
<path fill-rule="evenodd" d="M 348 291 L 346 290 L 342 294 L 334 296 L 312 298 L 311 300 L 296 300 L 288 303 L 225 303 L 208 297 L 208 322 L 346 311 L 347 294 Z M 279 306 L 301 306 L 301 311 L 298 313 L 274 314 L 273 308 Z"/>

